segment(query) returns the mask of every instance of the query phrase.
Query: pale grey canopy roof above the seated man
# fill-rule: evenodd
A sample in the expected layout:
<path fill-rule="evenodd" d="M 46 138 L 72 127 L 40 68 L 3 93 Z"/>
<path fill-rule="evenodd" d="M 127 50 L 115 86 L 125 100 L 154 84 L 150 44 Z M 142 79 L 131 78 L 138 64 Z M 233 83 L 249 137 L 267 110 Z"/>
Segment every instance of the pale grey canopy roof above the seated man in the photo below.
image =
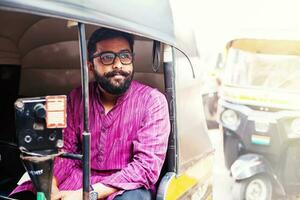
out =
<path fill-rule="evenodd" d="M 107 26 L 176 46 L 168 0 L 2 0 L 0 8 Z"/>

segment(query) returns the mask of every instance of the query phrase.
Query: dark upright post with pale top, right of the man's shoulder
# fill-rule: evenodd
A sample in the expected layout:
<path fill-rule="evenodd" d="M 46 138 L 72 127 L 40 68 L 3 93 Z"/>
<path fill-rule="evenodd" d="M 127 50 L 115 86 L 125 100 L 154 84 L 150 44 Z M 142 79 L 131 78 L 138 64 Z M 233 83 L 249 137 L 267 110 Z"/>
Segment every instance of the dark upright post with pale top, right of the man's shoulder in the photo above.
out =
<path fill-rule="evenodd" d="M 177 124 L 176 124 L 176 93 L 175 93 L 175 69 L 173 48 L 164 45 L 164 81 L 166 97 L 169 103 L 169 116 L 171 133 L 168 144 L 168 171 L 178 172 L 178 144 L 177 144 Z"/>

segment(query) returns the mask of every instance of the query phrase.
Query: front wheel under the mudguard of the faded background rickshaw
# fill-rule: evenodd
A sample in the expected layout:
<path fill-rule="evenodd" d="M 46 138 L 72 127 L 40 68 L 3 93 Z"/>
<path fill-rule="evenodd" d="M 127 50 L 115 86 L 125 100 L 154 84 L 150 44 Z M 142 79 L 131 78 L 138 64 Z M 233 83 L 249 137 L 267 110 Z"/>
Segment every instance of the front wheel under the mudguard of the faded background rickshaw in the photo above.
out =
<path fill-rule="evenodd" d="M 232 194 L 234 200 L 271 200 L 272 183 L 268 176 L 256 175 L 235 182 Z"/>

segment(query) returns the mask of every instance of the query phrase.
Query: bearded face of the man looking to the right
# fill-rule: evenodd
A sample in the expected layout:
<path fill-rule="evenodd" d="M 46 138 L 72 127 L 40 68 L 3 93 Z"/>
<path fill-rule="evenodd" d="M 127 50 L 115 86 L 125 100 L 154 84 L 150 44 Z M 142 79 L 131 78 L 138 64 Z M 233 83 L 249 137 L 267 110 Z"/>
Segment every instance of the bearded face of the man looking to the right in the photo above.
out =
<path fill-rule="evenodd" d="M 100 87 L 113 95 L 123 94 L 130 86 L 133 77 L 133 64 L 123 64 L 118 56 L 115 57 L 111 64 L 105 63 L 105 52 L 122 53 L 130 52 L 130 46 L 124 38 L 107 39 L 96 44 L 96 52 L 94 55 L 103 54 L 102 60 L 99 56 L 93 59 L 93 63 L 89 63 L 95 79 Z M 120 55 L 120 54 L 119 54 Z M 121 57 L 122 54 L 121 54 Z"/>

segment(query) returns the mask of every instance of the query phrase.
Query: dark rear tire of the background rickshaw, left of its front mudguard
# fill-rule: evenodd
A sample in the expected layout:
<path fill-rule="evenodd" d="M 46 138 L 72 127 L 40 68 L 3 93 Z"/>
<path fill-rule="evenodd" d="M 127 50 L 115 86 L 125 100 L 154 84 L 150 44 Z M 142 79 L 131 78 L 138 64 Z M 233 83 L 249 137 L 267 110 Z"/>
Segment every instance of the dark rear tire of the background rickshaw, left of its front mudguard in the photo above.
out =
<path fill-rule="evenodd" d="M 238 138 L 224 134 L 224 160 L 227 169 L 230 169 L 233 162 L 239 157 L 239 151 Z"/>

